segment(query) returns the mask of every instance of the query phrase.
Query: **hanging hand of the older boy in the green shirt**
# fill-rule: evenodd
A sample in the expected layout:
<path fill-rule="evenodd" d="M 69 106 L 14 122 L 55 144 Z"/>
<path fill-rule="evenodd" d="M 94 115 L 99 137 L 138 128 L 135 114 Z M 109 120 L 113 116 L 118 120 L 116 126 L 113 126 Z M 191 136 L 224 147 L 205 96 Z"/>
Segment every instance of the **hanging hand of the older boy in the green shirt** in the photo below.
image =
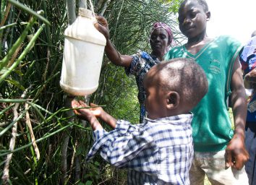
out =
<path fill-rule="evenodd" d="M 226 167 L 234 167 L 236 170 L 241 170 L 248 159 L 249 154 L 244 147 L 244 139 L 234 134 L 234 137 L 226 147 Z"/>

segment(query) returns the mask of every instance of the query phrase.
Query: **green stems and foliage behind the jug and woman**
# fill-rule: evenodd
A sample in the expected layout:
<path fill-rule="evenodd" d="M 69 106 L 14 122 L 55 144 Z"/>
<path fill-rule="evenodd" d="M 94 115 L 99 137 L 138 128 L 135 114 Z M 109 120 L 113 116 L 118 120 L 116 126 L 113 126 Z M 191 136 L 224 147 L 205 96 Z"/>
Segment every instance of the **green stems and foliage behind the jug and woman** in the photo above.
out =
<path fill-rule="evenodd" d="M 82 1 L 70 0 L 74 13 Z M 20 41 L 8 64 L 0 71 L 0 176 L 4 184 L 126 184 L 125 171 L 116 170 L 97 156 L 90 163 L 85 156 L 93 143 L 90 127 L 72 116 L 71 97 L 59 87 L 64 48 L 64 30 L 70 11 L 66 1 L 20 0 L 27 9 L 44 11 L 51 22 L 25 51 L 43 21 L 38 19 L 25 40 Z M 176 30 L 179 1 L 94 0 L 94 10 L 108 20 L 111 40 L 120 53 L 138 49 L 150 51 L 148 38 L 153 22 L 172 27 L 176 43 L 184 40 Z M 25 30 L 31 12 L 1 0 L 0 66 Z M 68 10 L 68 11 L 67 11 Z M 17 66 L 13 66 L 16 64 Z M 23 96 L 22 96 L 23 94 Z M 98 90 L 90 102 L 105 106 L 118 119 L 139 121 L 139 104 L 134 77 L 103 59 Z M 33 132 L 29 129 L 31 122 Z M 15 127 L 16 126 L 16 127 Z M 17 131 L 15 131 L 15 128 Z M 108 129 L 108 128 L 106 128 Z M 35 143 L 33 144 L 33 135 Z M 15 137 L 14 137 L 15 136 Z M 10 141 L 14 138 L 14 146 Z M 14 150 L 10 152 L 10 146 Z M 9 155 L 9 154 L 12 155 Z M 38 158 L 38 153 L 40 158 Z M 9 165 L 7 156 L 11 156 Z M 9 176 L 4 176 L 9 170 Z"/>

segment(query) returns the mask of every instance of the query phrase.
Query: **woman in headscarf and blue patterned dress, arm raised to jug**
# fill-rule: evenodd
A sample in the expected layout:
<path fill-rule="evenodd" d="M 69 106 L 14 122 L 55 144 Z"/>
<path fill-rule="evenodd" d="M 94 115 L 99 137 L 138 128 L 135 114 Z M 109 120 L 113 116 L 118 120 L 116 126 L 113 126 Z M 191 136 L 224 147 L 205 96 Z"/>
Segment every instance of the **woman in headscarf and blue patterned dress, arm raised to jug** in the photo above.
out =
<path fill-rule="evenodd" d="M 143 79 L 149 69 L 163 60 L 163 56 L 168 51 L 168 47 L 174 40 L 171 28 L 165 23 L 155 22 L 150 33 L 150 46 L 152 52 L 149 54 L 145 51 L 138 51 L 136 54 L 122 55 L 116 50 L 109 40 L 108 22 L 102 16 L 96 17 L 100 24 L 96 23 L 95 27 L 105 36 L 105 52 L 108 59 L 116 66 L 124 66 L 127 75 L 134 74 L 138 87 L 138 99 L 140 102 L 140 123 L 145 119 L 145 90 Z"/>

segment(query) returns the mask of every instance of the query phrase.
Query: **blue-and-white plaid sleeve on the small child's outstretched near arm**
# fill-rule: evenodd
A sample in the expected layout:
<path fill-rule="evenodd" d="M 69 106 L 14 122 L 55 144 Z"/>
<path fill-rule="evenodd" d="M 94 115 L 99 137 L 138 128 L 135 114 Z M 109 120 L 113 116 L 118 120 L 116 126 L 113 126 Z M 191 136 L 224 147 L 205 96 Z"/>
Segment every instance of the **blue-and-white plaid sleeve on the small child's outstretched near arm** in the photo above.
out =
<path fill-rule="evenodd" d="M 95 152 L 100 151 L 101 157 L 117 168 L 136 166 L 137 170 L 140 168 L 140 171 L 143 171 L 141 161 L 146 160 L 145 158 L 155 159 L 156 145 L 153 137 L 145 129 L 129 121 L 119 120 L 116 129 L 103 134 L 92 148 L 93 150 L 88 153 L 89 159 Z M 144 155 L 141 155 L 142 153 Z"/>

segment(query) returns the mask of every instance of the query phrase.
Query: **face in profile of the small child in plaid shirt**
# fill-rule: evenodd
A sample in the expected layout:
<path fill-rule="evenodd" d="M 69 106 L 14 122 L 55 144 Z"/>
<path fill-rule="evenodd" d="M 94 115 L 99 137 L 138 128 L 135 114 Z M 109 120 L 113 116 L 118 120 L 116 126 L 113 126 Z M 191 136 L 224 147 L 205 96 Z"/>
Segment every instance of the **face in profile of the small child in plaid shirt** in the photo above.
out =
<path fill-rule="evenodd" d="M 145 108 L 148 111 L 149 119 L 158 119 L 165 116 L 166 93 L 159 87 L 159 75 L 155 73 L 154 67 L 150 69 L 144 79 L 146 92 Z"/>

